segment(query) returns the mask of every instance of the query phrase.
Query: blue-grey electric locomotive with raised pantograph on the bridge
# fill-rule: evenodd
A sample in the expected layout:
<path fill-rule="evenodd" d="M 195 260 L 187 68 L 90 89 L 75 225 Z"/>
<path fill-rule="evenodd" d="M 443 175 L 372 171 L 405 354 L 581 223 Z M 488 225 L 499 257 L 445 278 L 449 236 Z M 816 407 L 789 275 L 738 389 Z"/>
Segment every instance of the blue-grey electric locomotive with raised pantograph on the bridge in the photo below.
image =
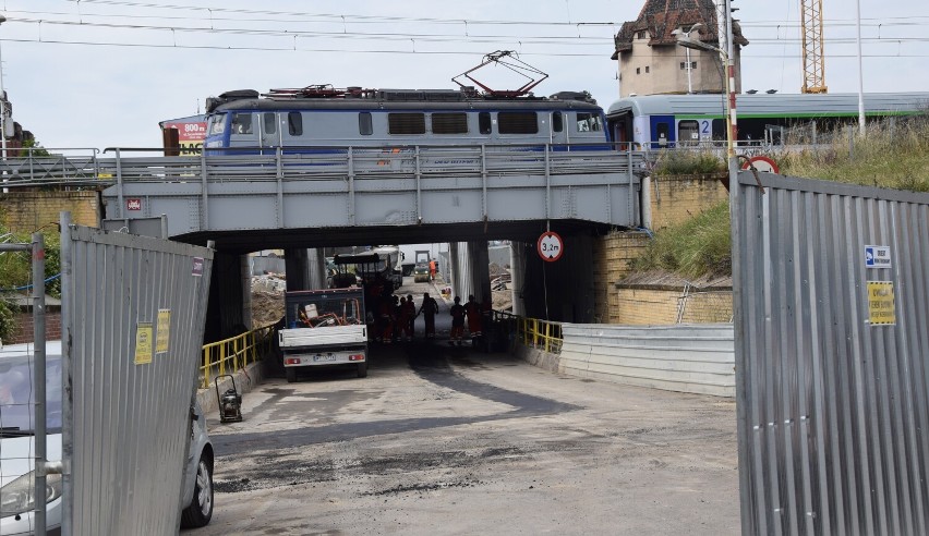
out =
<path fill-rule="evenodd" d="M 610 142 L 587 93 L 490 97 L 463 89 L 229 92 L 207 101 L 207 154 L 283 147 L 586 144 Z"/>

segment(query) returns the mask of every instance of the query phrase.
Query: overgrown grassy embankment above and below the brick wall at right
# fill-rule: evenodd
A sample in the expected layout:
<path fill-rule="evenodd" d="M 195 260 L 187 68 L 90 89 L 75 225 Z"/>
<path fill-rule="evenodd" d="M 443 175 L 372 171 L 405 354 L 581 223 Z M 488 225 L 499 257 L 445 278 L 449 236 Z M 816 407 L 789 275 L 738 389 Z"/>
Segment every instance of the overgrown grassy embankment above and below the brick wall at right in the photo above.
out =
<path fill-rule="evenodd" d="M 929 120 L 897 126 L 892 133 L 872 127 L 867 138 L 855 141 L 852 156 L 848 138 L 840 136 L 834 145 L 819 151 L 782 155 L 776 160 L 781 172 L 793 176 L 929 192 Z M 655 173 L 707 173 L 712 168 L 707 156 L 675 156 L 660 160 Z M 728 203 L 708 207 L 679 226 L 656 232 L 646 254 L 634 263 L 634 269 L 672 271 L 691 279 L 728 276 Z"/>

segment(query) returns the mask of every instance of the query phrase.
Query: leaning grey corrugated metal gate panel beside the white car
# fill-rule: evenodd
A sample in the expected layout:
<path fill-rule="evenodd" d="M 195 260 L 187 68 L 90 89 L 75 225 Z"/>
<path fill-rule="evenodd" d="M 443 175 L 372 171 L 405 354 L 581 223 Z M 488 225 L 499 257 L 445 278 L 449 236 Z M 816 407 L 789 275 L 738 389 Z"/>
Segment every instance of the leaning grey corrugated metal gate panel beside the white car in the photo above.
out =
<path fill-rule="evenodd" d="M 71 236 L 73 534 L 177 534 L 213 253 L 87 228 Z M 136 364 L 147 327 L 150 363 Z"/>

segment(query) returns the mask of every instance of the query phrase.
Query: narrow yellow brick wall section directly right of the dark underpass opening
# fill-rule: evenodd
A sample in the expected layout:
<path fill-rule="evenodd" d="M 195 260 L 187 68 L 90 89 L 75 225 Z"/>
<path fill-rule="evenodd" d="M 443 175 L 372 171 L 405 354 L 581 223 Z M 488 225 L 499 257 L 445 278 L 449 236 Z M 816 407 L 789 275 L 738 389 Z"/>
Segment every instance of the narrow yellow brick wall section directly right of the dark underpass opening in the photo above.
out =
<path fill-rule="evenodd" d="M 643 232 L 617 232 L 593 241 L 594 315 L 601 324 L 619 321 L 616 282 L 629 273 L 629 263 L 648 243 L 649 235 Z"/>

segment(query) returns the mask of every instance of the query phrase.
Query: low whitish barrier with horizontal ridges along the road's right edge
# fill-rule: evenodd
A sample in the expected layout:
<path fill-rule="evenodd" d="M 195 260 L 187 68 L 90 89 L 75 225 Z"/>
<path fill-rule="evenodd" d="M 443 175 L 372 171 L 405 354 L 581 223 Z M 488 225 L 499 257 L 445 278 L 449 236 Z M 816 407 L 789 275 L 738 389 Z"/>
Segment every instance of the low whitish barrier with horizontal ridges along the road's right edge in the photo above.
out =
<path fill-rule="evenodd" d="M 566 374 L 669 391 L 735 397 L 733 327 L 564 324 Z"/>

